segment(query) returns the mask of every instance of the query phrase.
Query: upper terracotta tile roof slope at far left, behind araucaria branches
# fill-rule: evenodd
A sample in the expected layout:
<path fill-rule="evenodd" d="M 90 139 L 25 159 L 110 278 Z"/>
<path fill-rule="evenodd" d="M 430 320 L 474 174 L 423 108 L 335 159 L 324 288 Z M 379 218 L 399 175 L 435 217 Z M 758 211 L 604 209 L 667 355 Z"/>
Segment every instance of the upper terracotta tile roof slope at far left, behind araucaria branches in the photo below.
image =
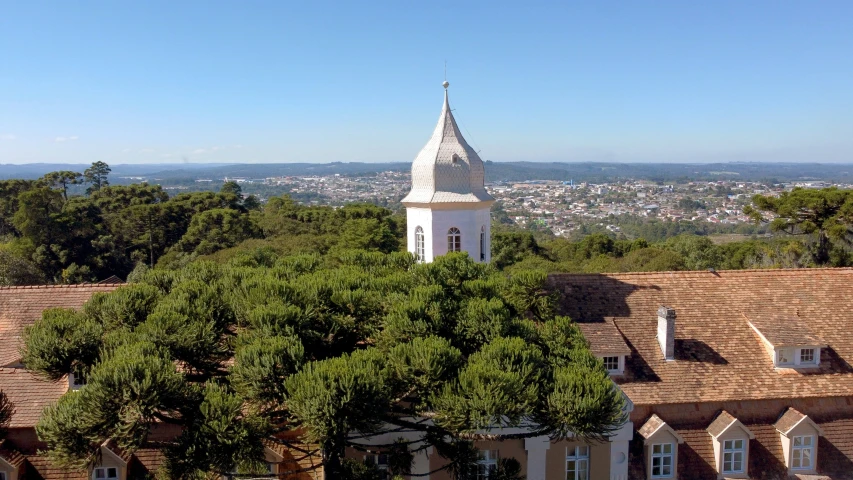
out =
<path fill-rule="evenodd" d="M 0 367 L 20 359 L 24 327 L 49 308 L 79 309 L 94 293 L 111 292 L 120 284 L 37 285 L 0 287 Z"/>

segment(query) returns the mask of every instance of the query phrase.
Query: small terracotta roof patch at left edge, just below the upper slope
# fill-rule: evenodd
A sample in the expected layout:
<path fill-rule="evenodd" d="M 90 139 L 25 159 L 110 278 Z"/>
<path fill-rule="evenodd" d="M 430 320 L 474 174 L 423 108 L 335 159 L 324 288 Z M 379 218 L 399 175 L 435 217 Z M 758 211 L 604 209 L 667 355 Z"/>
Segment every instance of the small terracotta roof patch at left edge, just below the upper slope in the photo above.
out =
<path fill-rule="evenodd" d="M 9 428 L 34 427 L 44 407 L 68 391 L 68 380 L 50 382 L 23 368 L 0 368 L 0 390 L 15 406 Z"/>

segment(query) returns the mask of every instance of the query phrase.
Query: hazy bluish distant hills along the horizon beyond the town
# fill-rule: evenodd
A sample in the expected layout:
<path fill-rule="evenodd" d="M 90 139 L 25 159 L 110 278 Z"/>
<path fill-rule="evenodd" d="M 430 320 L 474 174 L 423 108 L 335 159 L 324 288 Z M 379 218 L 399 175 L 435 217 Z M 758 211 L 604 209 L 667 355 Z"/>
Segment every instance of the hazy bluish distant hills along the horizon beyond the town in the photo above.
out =
<path fill-rule="evenodd" d="M 853 183 L 853 164 L 817 163 L 537 163 L 486 162 L 489 182 L 558 180 L 603 183 L 617 180 L 660 182 L 745 180 L 791 182 L 823 180 Z M 82 172 L 87 165 L 29 164 L 0 165 L 0 179 L 38 178 L 55 170 Z M 112 165 L 112 176 L 142 176 L 158 183 L 181 182 L 192 178 L 266 178 L 306 175 L 367 175 L 382 171 L 408 171 L 409 162 L 393 163 L 270 163 L 270 164 L 151 164 Z"/>

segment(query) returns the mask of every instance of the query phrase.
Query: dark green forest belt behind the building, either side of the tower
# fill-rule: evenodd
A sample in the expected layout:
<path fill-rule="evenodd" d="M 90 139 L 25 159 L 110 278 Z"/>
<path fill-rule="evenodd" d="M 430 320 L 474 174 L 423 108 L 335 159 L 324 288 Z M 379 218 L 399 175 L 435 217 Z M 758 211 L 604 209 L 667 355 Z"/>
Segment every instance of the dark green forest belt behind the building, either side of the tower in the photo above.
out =
<path fill-rule="evenodd" d="M 82 174 L 0 180 L 0 285 L 124 280 L 150 268 L 225 263 L 244 253 L 406 249 L 402 211 L 309 206 L 287 195 L 261 204 L 233 182 L 169 196 L 158 185 L 110 185 L 109 172 L 98 162 Z M 71 186 L 86 187 L 85 194 L 69 195 Z M 675 222 L 638 224 L 635 240 L 594 229 L 566 239 L 506 225 L 498 214 L 492 258 L 499 270 L 546 273 L 848 266 L 850 201 L 849 191 L 833 188 L 756 198 L 756 223 L 777 234 L 725 244 Z"/>

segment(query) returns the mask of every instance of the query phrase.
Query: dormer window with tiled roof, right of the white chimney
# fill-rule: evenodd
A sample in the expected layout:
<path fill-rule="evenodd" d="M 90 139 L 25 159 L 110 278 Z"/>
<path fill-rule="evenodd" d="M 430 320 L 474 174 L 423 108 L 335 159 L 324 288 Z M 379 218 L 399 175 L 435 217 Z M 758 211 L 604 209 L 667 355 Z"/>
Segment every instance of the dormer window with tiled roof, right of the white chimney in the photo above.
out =
<path fill-rule="evenodd" d="M 800 317 L 748 318 L 777 368 L 809 368 L 820 364 L 826 343 L 811 332 Z"/>

